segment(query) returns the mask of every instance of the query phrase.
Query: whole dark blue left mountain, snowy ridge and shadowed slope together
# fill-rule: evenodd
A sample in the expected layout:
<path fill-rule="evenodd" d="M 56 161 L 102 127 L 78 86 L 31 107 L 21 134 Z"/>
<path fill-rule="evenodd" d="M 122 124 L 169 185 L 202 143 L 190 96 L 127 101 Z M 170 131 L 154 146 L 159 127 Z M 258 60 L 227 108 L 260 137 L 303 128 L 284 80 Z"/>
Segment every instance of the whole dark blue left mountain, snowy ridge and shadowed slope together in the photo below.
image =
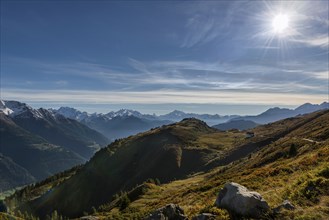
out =
<path fill-rule="evenodd" d="M 16 101 L 1 101 L 0 122 L 1 190 L 84 163 L 109 143 L 76 120 Z"/>

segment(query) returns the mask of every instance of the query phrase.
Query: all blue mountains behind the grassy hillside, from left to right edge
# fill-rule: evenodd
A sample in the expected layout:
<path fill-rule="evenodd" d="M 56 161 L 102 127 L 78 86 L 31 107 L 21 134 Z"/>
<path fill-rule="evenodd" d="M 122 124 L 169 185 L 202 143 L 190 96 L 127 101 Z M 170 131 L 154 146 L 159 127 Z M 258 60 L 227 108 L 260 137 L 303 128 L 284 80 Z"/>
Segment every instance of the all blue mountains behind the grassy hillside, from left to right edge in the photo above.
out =
<path fill-rule="evenodd" d="M 214 126 L 220 130 L 245 130 L 328 107 L 324 102 L 320 105 L 306 103 L 296 109 L 271 108 L 256 116 L 193 114 L 177 110 L 157 116 L 128 109 L 107 114 L 89 114 L 68 107 L 33 109 L 17 101 L 1 101 L 0 189 L 41 180 L 87 161 L 115 139 L 158 129 L 184 118 L 201 119 L 209 125 L 225 122 Z"/>

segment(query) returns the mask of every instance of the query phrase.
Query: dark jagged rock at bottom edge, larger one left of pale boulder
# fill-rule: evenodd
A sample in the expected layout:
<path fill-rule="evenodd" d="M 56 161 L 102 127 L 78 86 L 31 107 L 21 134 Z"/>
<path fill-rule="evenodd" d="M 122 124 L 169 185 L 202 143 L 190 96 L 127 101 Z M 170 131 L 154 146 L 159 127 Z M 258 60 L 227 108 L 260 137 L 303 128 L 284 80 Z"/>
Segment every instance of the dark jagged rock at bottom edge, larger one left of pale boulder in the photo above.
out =
<path fill-rule="evenodd" d="M 152 212 L 145 220 L 187 220 L 187 217 L 179 205 L 168 204 Z"/>

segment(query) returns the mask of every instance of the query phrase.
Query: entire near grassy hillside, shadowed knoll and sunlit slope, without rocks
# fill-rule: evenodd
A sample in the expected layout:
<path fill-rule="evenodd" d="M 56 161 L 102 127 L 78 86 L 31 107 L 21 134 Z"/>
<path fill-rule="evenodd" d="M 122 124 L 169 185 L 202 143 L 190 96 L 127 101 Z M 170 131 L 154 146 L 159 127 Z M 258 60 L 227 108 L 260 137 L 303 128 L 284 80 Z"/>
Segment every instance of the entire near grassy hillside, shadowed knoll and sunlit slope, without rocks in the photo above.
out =
<path fill-rule="evenodd" d="M 195 119 L 153 129 L 116 141 L 76 174 L 59 178 L 72 175 L 57 187 L 51 189 L 57 185 L 51 182 L 36 187 L 45 187 L 47 193 L 33 188 L 38 191 L 33 202 L 18 206 L 13 202 L 20 200 L 18 194 L 8 202 L 16 210 L 37 215 L 56 209 L 67 216 L 93 212 L 104 219 L 139 219 L 167 203 L 177 203 L 189 217 L 213 212 L 225 219 L 227 213 L 213 204 L 218 190 L 234 181 L 261 193 L 271 207 L 285 199 L 297 207 L 278 219 L 328 219 L 329 112 L 252 131 L 255 137 L 245 138 L 242 132 L 219 132 Z"/>

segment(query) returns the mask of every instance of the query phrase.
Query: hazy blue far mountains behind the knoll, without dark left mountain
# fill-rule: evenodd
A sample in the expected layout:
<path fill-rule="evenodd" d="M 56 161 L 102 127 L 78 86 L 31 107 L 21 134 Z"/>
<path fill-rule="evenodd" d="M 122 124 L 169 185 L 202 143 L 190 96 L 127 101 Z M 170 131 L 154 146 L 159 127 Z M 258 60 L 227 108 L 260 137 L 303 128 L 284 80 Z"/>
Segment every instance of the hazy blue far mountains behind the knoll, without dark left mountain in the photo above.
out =
<path fill-rule="evenodd" d="M 195 114 L 185 113 L 178 110 L 158 116 L 155 114 L 142 114 L 138 111 L 129 109 L 111 111 L 107 114 L 89 114 L 70 107 L 61 107 L 57 110 L 51 109 L 51 111 L 54 114 L 60 114 L 66 118 L 75 119 L 90 128 L 97 130 L 109 139 L 114 140 L 147 131 L 154 127 L 178 122 L 184 118 L 196 118 L 206 122 L 209 126 L 214 126 L 215 128 L 222 130 L 244 130 L 253 128 L 258 124 L 266 124 L 299 114 L 307 114 L 328 108 L 329 104 L 327 102 L 323 102 L 320 105 L 306 103 L 296 109 L 271 108 L 255 116 Z"/>

